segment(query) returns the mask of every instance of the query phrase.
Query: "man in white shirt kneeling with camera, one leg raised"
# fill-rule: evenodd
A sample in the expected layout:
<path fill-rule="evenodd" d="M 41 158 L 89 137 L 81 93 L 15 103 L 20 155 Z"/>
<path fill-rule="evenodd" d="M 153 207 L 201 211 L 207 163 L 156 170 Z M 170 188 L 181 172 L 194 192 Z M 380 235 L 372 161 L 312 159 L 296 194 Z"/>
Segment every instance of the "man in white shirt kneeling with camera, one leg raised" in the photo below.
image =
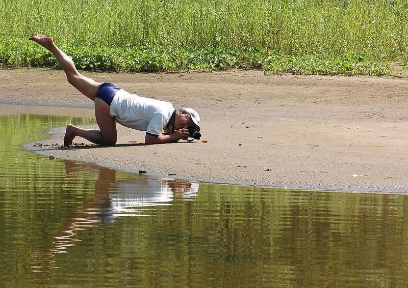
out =
<path fill-rule="evenodd" d="M 69 124 L 64 146 L 71 146 L 76 136 L 99 145 L 114 145 L 117 140 L 116 122 L 146 131 L 147 144 L 187 140 L 200 131 L 198 113 L 191 108 L 175 110 L 169 102 L 130 94 L 114 83 L 99 83 L 80 74 L 72 59 L 61 51 L 53 38 L 33 34 L 30 38 L 54 54 L 64 70 L 68 82 L 95 102 L 95 117 L 99 130 L 83 129 Z M 199 139 L 200 134 L 196 136 Z"/>

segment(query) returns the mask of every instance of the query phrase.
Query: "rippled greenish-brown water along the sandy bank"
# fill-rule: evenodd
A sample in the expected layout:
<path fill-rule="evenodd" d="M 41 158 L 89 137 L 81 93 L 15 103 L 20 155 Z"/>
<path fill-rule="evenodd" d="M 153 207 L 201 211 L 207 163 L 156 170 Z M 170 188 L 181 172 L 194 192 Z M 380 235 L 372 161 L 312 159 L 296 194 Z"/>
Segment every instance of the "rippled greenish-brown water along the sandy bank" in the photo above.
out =
<path fill-rule="evenodd" d="M 0 117 L 0 286 L 405 286 L 408 197 L 155 180 L 20 149 Z"/>

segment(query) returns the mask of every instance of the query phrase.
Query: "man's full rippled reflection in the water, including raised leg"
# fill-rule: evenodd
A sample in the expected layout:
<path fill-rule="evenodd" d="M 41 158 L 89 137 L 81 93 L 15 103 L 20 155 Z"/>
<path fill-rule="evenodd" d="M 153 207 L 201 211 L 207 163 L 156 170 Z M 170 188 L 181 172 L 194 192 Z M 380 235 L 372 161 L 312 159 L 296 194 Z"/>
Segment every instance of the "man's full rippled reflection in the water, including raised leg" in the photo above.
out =
<path fill-rule="evenodd" d="M 54 253 L 68 252 L 67 248 L 81 241 L 74 237 L 78 231 L 98 227 L 96 223 L 112 222 L 120 216 L 147 216 L 140 208 L 171 205 L 173 197 L 193 200 L 198 192 L 197 182 L 148 178 L 116 180 L 117 171 L 110 168 L 69 160 L 65 160 L 64 164 L 66 176 L 73 179 L 80 177 L 89 166 L 92 166 L 93 172 L 98 172 L 93 197 L 84 199 L 81 205 L 71 208 L 49 251 L 33 252 L 31 268 L 34 273 L 45 273 L 49 269 L 58 268 L 50 259 Z"/>

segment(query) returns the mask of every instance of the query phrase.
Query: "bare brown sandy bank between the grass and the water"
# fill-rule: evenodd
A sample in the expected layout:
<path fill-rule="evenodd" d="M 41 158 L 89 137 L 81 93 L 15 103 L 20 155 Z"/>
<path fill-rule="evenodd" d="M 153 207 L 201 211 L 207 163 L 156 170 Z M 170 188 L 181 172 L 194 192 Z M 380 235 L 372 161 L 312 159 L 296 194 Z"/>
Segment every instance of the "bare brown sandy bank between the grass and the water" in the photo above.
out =
<path fill-rule="evenodd" d="M 135 173 L 144 170 L 155 178 L 408 192 L 406 78 L 253 70 L 84 74 L 175 108 L 196 109 L 201 139 L 145 145 L 144 132 L 117 125 L 115 146 L 62 149 L 61 127 L 48 130 L 43 146 L 27 143 L 24 148 Z M 67 83 L 63 71 L 1 69 L 0 77 L 0 114 L 93 117 L 93 102 Z M 82 138 L 74 142 L 87 143 Z"/>

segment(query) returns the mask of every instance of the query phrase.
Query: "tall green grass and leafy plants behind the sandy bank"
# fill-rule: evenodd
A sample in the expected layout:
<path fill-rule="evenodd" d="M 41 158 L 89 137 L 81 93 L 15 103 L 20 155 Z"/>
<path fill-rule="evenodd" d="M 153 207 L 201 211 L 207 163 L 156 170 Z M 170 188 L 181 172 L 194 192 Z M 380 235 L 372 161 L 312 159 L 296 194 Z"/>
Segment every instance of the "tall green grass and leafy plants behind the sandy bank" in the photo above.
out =
<path fill-rule="evenodd" d="M 406 0 L 0 0 L 0 65 L 384 75 L 408 61 Z"/>

